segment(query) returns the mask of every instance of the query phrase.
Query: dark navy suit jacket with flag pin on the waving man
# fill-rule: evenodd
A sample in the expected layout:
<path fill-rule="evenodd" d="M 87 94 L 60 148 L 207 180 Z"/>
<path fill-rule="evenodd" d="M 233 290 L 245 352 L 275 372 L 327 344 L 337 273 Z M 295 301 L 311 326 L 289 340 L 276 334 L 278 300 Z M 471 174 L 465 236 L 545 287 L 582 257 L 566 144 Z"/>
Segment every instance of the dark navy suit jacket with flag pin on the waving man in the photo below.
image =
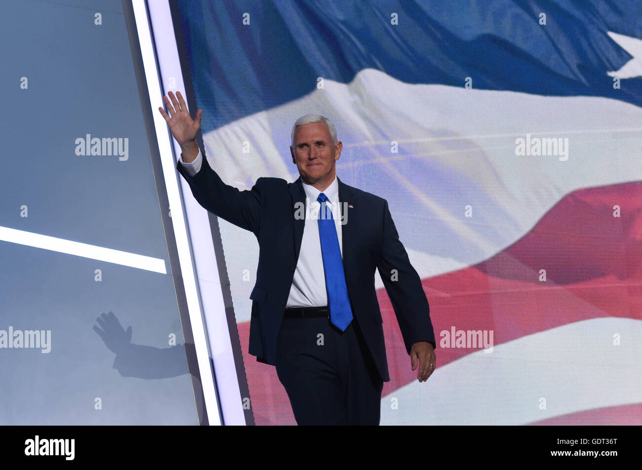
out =
<path fill-rule="evenodd" d="M 189 176 L 180 162 L 177 170 L 200 205 L 251 231 L 259 241 L 256 285 L 250 294 L 253 302 L 249 352 L 259 362 L 273 365 L 305 225 L 305 219 L 295 217 L 295 209 L 300 207 L 295 204 L 302 203 L 304 208 L 306 201 L 301 178 L 293 183 L 281 178 L 259 178 L 251 190 L 239 191 L 221 181 L 202 153 L 203 164 L 195 176 Z M 338 185 L 342 210 L 343 203 L 352 206 L 347 208 L 347 222 L 342 225 L 343 269 L 352 313 L 382 380 L 388 382 L 383 320 L 374 287 L 375 269 L 379 269 L 392 302 L 408 354 L 415 342 L 428 341 L 435 346 L 428 299 L 399 241 L 388 202 L 341 180 Z M 392 280 L 394 269 L 397 280 Z"/>

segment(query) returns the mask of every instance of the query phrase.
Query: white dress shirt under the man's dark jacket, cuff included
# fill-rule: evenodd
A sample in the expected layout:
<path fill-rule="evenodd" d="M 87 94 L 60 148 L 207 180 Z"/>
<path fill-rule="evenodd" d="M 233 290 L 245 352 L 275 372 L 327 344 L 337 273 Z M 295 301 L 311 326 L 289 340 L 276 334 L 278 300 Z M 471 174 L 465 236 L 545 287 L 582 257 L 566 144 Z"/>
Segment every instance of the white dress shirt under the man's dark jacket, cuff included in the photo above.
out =
<path fill-rule="evenodd" d="M 191 164 L 183 162 L 182 157 L 180 163 L 185 167 L 187 174 L 194 176 L 201 169 L 203 162 L 203 155 L 198 149 L 198 155 Z M 327 291 L 325 290 L 325 272 L 323 267 L 323 257 L 321 255 L 321 240 L 319 238 L 318 230 L 318 215 L 321 205 L 317 201 L 317 197 L 321 191 L 307 183 L 303 184 L 303 189 L 306 192 L 306 205 L 309 205 L 309 217 L 306 218 L 303 230 L 303 239 L 301 240 L 301 249 L 299 252 L 299 260 L 297 260 L 297 269 L 294 272 L 292 286 L 290 288 L 290 296 L 286 308 L 299 307 L 299 306 L 326 306 Z M 339 210 L 339 183 L 334 176 L 334 181 L 327 187 L 323 193 L 327 196 L 327 205 L 332 211 L 334 218 L 334 226 L 336 227 L 336 235 L 338 237 L 339 249 L 343 258 L 343 244 L 342 244 L 342 224 L 341 213 Z"/>

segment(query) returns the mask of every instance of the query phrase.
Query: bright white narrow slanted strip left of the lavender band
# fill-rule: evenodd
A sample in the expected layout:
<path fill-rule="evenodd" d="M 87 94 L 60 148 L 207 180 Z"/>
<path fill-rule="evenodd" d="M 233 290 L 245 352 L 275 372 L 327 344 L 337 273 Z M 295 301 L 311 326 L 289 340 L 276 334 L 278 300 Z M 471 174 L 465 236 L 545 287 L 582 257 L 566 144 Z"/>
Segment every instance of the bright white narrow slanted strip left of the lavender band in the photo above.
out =
<path fill-rule="evenodd" d="M 165 119 L 158 112 L 158 108 L 164 107 L 164 104 L 162 102 L 162 91 L 160 90 L 160 81 L 154 57 L 150 24 L 147 19 L 147 10 L 144 0 L 133 0 L 132 6 L 134 8 L 138 40 L 141 44 L 141 55 L 143 56 L 143 67 L 145 71 L 145 79 L 147 81 L 147 89 L 150 94 L 150 102 L 152 104 L 152 115 L 158 139 L 160 162 L 162 165 L 165 185 L 167 187 L 169 210 L 171 210 L 172 214 L 171 220 L 174 228 L 174 236 L 176 238 L 178 261 L 180 262 L 180 269 L 185 286 L 187 308 L 189 310 L 189 319 L 194 335 L 196 359 L 198 361 L 198 370 L 200 372 L 203 387 L 205 407 L 207 408 L 207 417 L 209 424 L 220 425 L 221 417 L 218 411 L 216 387 L 214 386 L 214 374 L 209 357 L 207 334 L 205 332 L 204 321 L 201 314 L 200 301 L 198 300 L 196 275 L 192 265 L 191 254 L 189 253 L 187 226 L 182 210 L 180 192 L 178 190 L 174 155 L 171 149 L 171 142 L 169 141 L 167 122 L 165 122 Z"/>

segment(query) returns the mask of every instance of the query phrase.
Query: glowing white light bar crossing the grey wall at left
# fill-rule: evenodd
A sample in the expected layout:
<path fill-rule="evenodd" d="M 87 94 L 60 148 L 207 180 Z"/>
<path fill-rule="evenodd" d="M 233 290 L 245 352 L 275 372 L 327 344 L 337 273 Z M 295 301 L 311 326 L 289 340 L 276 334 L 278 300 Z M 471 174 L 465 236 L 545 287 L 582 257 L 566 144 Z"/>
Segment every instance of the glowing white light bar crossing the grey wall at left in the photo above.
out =
<path fill-rule="evenodd" d="M 33 248 L 58 251 L 58 253 L 67 253 L 67 255 L 83 256 L 83 258 L 91 258 L 92 260 L 136 267 L 146 271 L 153 271 L 154 273 L 167 274 L 165 260 L 160 258 L 136 255 L 135 253 L 127 253 L 126 251 L 103 248 L 102 246 L 73 242 L 71 240 L 56 239 L 56 237 L 40 235 L 40 233 L 0 227 L 0 240 L 33 246 Z"/>

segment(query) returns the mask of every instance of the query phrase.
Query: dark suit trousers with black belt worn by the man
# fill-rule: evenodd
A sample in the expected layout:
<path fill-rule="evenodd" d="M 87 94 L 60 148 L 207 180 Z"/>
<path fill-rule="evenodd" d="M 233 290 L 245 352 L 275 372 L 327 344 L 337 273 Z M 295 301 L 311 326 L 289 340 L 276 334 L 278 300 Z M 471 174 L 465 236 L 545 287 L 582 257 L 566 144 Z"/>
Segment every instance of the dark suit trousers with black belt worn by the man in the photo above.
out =
<path fill-rule="evenodd" d="M 327 317 L 284 318 L 275 366 L 297 424 L 379 424 L 383 380 L 356 319 L 341 332 Z"/>

